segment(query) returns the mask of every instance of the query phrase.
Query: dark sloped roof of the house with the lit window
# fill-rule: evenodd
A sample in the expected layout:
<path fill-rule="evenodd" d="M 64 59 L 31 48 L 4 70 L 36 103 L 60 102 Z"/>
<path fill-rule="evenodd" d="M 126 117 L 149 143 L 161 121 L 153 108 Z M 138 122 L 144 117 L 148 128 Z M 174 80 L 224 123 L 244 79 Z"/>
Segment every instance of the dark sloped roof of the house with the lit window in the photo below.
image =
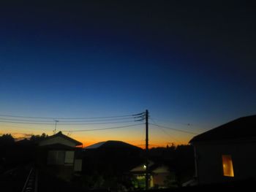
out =
<path fill-rule="evenodd" d="M 230 139 L 245 139 L 256 137 L 256 115 L 232 120 L 222 126 L 199 134 L 190 140 L 194 142 L 220 141 Z"/>

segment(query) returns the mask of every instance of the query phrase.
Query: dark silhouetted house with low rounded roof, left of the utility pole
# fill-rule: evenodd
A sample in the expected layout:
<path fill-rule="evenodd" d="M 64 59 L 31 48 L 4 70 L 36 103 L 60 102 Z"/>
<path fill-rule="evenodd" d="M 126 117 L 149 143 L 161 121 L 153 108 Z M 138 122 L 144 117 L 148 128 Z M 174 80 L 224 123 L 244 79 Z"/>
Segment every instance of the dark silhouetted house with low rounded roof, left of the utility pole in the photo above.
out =
<path fill-rule="evenodd" d="M 83 173 L 97 172 L 116 177 L 129 172 L 132 167 L 142 163 L 143 159 L 143 149 L 127 142 L 97 142 L 83 148 Z"/>

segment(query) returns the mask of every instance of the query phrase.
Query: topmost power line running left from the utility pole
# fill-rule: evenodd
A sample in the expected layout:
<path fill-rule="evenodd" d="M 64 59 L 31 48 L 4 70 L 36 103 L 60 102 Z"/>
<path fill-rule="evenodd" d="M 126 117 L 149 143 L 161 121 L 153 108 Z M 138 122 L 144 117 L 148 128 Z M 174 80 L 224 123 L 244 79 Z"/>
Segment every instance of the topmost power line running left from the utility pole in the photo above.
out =
<path fill-rule="evenodd" d="M 19 115 L 1 115 L 1 117 L 10 118 L 29 118 L 29 119 L 103 119 L 103 118 L 124 118 L 124 117 L 134 117 L 142 115 L 143 113 L 130 114 L 130 115 L 113 115 L 113 116 L 103 116 L 103 117 L 84 117 L 84 118 L 50 118 L 50 117 L 31 117 L 31 116 L 19 116 Z"/>

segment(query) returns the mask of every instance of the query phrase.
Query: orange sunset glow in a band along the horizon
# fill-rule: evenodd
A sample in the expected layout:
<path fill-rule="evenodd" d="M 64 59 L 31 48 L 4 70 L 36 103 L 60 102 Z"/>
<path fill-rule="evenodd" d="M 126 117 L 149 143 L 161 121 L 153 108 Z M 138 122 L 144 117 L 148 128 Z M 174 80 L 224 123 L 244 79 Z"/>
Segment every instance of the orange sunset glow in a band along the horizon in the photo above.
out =
<path fill-rule="evenodd" d="M 41 135 L 42 133 L 53 135 L 53 127 L 34 128 L 34 126 L 5 126 L 1 125 L 1 134 L 12 134 L 15 139 L 29 139 L 31 135 Z M 61 131 L 61 130 L 58 130 Z M 57 132 L 58 132 L 57 131 Z M 116 140 L 127 142 L 131 145 L 145 149 L 145 132 L 143 127 L 135 128 L 133 130 L 120 129 L 115 131 L 92 131 L 92 132 L 72 132 L 71 135 L 67 134 L 67 131 L 63 131 L 69 137 L 83 143 L 83 147 L 88 147 L 97 142 L 104 142 L 108 140 Z M 1 135 L 0 134 L 0 135 Z M 161 131 L 151 129 L 149 132 L 148 147 L 166 147 L 167 145 L 187 145 L 192 137 L 189 135 L 173 134 L 173 137 L 163 135 Z"/>

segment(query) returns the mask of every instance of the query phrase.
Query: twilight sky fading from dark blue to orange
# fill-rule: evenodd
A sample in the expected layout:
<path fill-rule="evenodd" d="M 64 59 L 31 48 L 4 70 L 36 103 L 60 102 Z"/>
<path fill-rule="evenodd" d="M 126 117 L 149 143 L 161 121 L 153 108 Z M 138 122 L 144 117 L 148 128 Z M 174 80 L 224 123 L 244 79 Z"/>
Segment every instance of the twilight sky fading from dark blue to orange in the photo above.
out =
<path fill-rule="evenodd" d="M 145 123 L 116 116 L 148 110 L 153 147 L 255 115 L 255 14 L 252 1 L 1 1 L 0 134 L 51 135 L 55 119 L 85 146 L 143 146 L 144 124 L 74 130 Z M 60 119 L 92 117 L 129 122 Z"/>

